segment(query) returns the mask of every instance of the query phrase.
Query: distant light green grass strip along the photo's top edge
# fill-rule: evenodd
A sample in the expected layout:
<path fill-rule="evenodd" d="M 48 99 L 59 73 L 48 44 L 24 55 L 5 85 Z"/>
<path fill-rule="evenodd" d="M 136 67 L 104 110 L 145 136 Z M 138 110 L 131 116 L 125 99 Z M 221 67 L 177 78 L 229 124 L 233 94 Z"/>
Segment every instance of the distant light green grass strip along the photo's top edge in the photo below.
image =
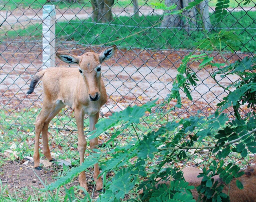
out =
<path fill-rule="evenodd" d="M 47 0 L 2 0 L 3 5 L 0 6 L 0 10 L 2 9 L 9 9 L 9 10 L 14 10 L 15 8 L 33 8 L 33 9 L 40 9 L 42 5 L 47 3 Z M 150 5 L 151 3 L 155 2 L 164 2 L 164 0 L 138 0 L 139 6 L 143 6 L 145 4 Z M 209 1 L 208 5 L 211 7 L 215 7 L 217 3 L 217 0 L 211 0 Z M 237 6 L 240 7 L 253 7 L 255 4 L 253 2 L 250 2 L 249 5 L 243 5 L 244 0 L 230 0 L 229 7 L 230 8 L 236 8 Z M 49 3 L 47 3 L 49 4 Z M 66 8 L 88 8 L 91 7 L 91 3 L 88 0 L 80 0 L 76 1 L 73 3 L 69 3 L 67 1 L 53 1 L 51 4 L 56 5 L 56 8 L 58 9 L 66 9 Z M 115 0 L 114 7 L 120 7 L 120 8 L 125 8 L 127 6 L 132 6 L 130 0 Z"/>

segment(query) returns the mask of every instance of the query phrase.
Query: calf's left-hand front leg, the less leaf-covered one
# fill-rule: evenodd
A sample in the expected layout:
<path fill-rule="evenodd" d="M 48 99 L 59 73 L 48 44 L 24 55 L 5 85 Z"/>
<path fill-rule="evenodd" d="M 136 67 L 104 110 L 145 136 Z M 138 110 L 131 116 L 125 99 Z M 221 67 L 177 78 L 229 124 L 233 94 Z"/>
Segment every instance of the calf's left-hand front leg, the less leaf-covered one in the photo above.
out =
<path fill-rule="evenodd" d="M 77 130 L 78 130 L 78 152 L 80 157 L 80 165 L 84 161 L 84 152 L 86 150 L 87 142 L 84 137 L 83 132 L 83 121 L 84 121 L 84 113 L 82 112 L 82 109 L 74 109 L 75 119 L 77 122 Z M 87 182 L 86 182 L 86 174 L 83 171 L 80 173 L 78 177 L 78 181 L 81 187 L 85 188 L 88 191 Z"/>

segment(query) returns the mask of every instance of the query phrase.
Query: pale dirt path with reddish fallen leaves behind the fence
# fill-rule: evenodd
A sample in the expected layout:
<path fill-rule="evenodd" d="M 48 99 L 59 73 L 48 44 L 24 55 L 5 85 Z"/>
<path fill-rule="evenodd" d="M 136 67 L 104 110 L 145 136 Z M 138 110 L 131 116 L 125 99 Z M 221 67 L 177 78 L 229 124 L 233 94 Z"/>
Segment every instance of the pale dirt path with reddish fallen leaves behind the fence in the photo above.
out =
<path fill-rule="evenodd" d="M 18 50 L 12 54 L 13 49 Z M 56 47 L 57 51 L 63 50 L 63 46 Z M 83 46 L 65 45 L 65 48 L 72 49 L 72 54 L 80 55 L 81 52 L 98 51 L 99 47 L 85 48 Z M 31 43 L 12 43 L 7 47 L 1 46 L 0 51 L 4 58 L 0 58 L 0 89 L 2 96 L 1 103 L 4 108 L 20 110 L 35 106 L 41 108 L 42 88 L 36 87 L 35 93 L 26 94 L 31 81 L 31 75 L 40 71 L 42 67 L 42 53 L 40 44 Z M 26 54 L 24 54 L 26 52 Z M 173 79 L 177 75 L 182 58 L 187 55 L 184 50 L 142 50 L 142 49 L 123 49 L 116 50 L 113 58 L 102 64 L 103 81 L 106 91 L 109 95 L 108 102 L 102 107 L 101 115 L 114 112 L 114 108 L 133 106 L 134 104 L 144 104 L 147 101 L 159 98 L 164 99 L 172 89 Z M 223 59 L 212 52 L 215 62 L 223 62 Z M 249 54 L 225 54 L 230 62 L 249 56 Z M 7 62 L 5 62 L 7 60 Z M 66 67 L 66 64 L 59 62 L 57 65 Z M 216 104 L 222 101 L 227 94 L 222 88 L 217 86 L 216 82 L 210 78 L 210 67 L 199 70 L 198 62 L 192 62 L 189 67 L 196 72 L 199 78 L 198 86 L 191 88 L 194 102 L 186 99 L 184 93 L 184 105 L 177 109 L 178 114 L 184 113 L 184 117 L 196 114 L 201 110 L 205 115 L 214 112 Z M 72 65 L 71 65 L 72 67 Z M 73 66 L 77 67 L 77 66 Z M 6 75 L 8 75 L 6 77 Z M 236 77 L 230 76 L 228 79 L 222 79 L 216 76 L 216 79 L 223 86 L 228 86 L 236 81 Z M 42 86 L 42 83 L 39 83 Z M 39 98 L 39 99 L 38 99 Z M 174 104 L 174 103 L 173 103 Z"/>

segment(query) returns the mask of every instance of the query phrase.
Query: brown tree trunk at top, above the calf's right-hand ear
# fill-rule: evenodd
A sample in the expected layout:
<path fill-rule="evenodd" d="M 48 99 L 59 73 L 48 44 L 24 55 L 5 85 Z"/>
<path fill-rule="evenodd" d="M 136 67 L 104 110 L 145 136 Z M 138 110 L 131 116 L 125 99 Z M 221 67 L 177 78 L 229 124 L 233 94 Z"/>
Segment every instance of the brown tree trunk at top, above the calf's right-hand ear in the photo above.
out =
<path fill-rule="evenodd" d="M 92 4 L 92 19 L 95 22 L 111 22 L 113 19 L 111 7 L 114 5 L 114 0 L 91 0 Z"/>

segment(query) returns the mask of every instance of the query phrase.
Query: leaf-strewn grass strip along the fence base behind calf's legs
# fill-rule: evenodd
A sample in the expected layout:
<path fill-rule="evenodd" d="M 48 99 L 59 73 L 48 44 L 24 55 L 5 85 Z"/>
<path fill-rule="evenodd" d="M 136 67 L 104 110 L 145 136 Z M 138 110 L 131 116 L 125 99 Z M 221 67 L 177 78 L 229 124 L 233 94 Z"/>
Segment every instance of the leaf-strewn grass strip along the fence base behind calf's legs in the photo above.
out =
<path fill-rule="evenodd" d="M 34 138 L 35 138 L 35 121 L 39 110 L 37 108 L 24 109 L 24 111 L 4 111 L 0 110 L 0 126 L 2 134 L 0 134 L 0 152 L 5 150 L 17 151 L 20 159 L 24 156 L 33 156 L 34 153 Z M 156 123 L 156 119 L 152 117 L 145 117 L 144 123 L 137 126 L 137 133 L 143 135 L 145 131 L 150 132 L 156 130 L 159 124 L 166 123 L 166 118 L 162 118 Z M 149 126 L 151 126 L 149 128 Z M 121 127 L 121 123 L 120 126 Z M 119 128 L 118 127 L 118 128 Z M 89 131 L 89 118 L 84 120 L 84 131 Z M 64 109 L 49 124 L 48 140 L 49 147 L 56 159 L 71 159 L 72 165 L 79 165 L 79 154 L 77 150 L 77 126 L 73 116 L 72 110 Z M 99 137 L 103 142 L 109 141 L 109 137 L 113 133 L 113 129 L 106 131 Z M 132 126 L 128 127 L 124 133 L 112 140 L 110 145 L 124 145 L 127 144 L 136 134 Z M 121 141 L 120 141 L 121 140 Z M 89 140 L 86 154 L 91 152 L 89 147 Z M 40 136 L 40 146 L 42 140 Z M 100 141 L 101 143 L 101 141 Z M 108 148 L 110 149 L 110 148 Z M 39 151 L 40 157 L 44 158 L 42 151 Z"/>

